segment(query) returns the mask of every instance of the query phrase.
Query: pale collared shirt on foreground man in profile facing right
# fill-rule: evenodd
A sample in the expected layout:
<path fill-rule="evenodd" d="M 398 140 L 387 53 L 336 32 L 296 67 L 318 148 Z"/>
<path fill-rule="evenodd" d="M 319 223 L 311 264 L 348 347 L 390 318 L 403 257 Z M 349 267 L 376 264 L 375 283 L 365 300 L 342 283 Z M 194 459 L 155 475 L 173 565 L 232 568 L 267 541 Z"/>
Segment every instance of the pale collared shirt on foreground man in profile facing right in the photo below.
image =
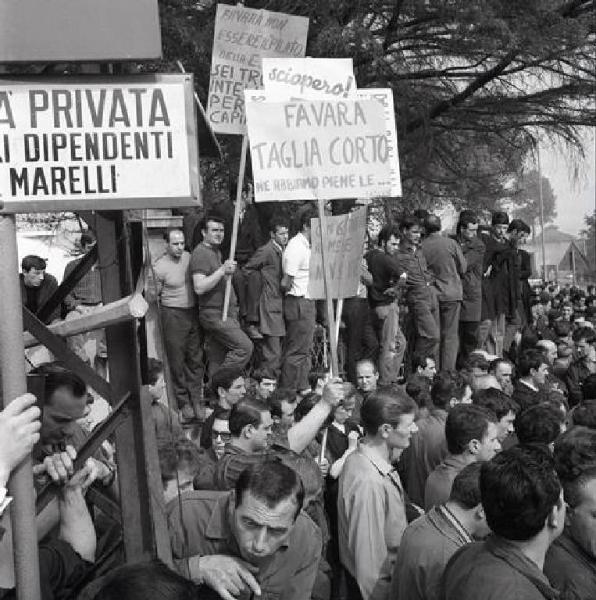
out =
<path fill-rule="evenodd" d="M 364 600 L 388 600 L 393 565 L 407 526 L 399 475 L 366 444 L 344 465 L 337 499 L 339 557 Z"/>

